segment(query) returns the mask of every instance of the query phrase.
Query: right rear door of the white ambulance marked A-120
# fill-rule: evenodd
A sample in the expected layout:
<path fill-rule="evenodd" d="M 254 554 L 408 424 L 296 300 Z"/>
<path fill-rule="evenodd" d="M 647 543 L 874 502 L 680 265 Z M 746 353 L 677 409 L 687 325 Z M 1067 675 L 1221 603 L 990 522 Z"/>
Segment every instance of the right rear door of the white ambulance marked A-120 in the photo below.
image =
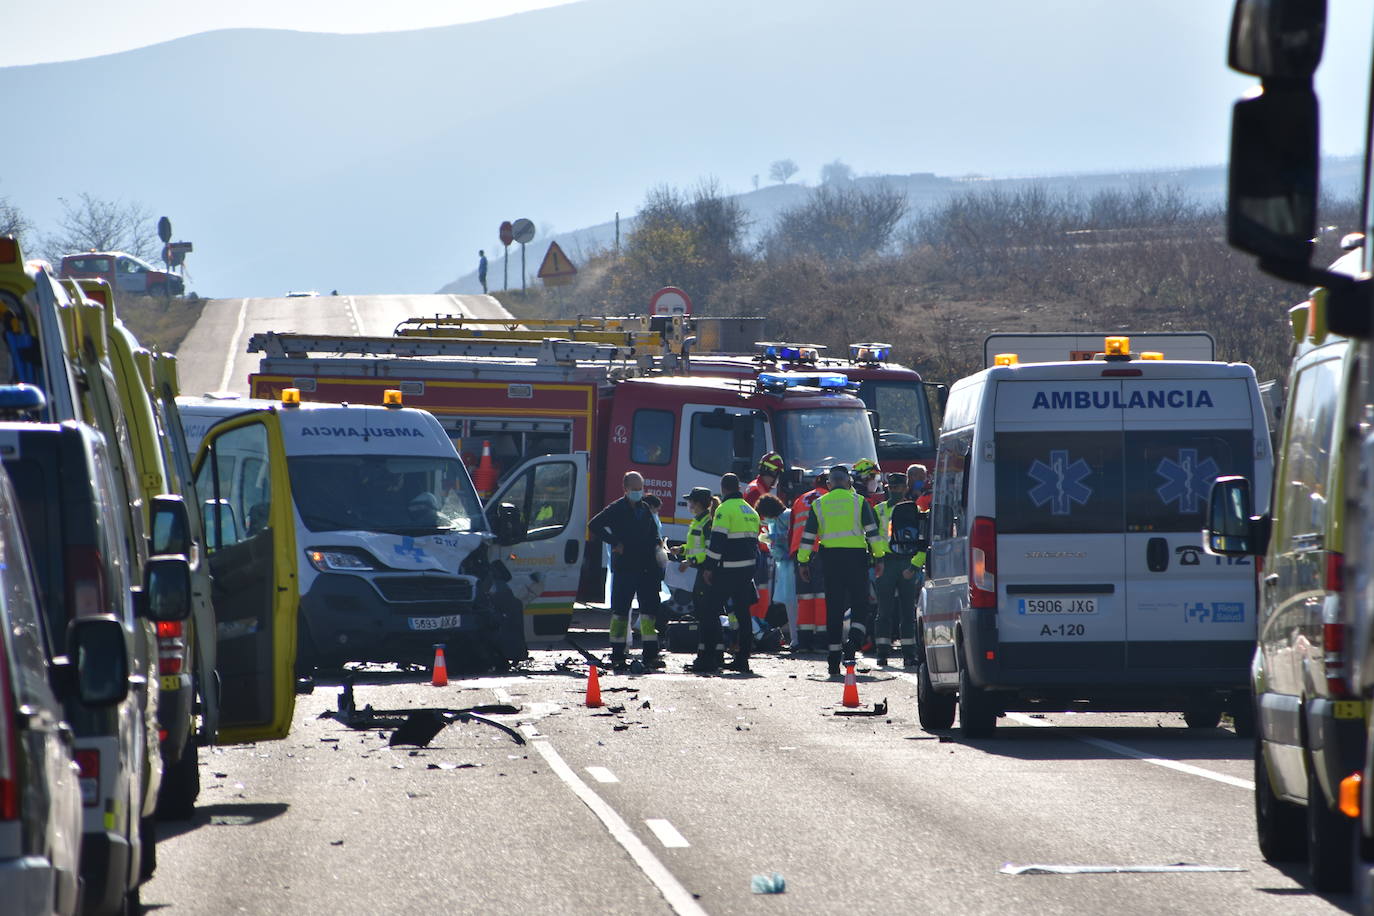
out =
<path fill-rule="evenodd" d="M 1123 382 L 1128 667 L 1248 670 L 1253 560 L 1208 556 L 1200 531 L 1219 475 L 1256 481 L 1256 507 L 1268 505 L 1272 459 L 1257 401 L 1248 378 Z"/>

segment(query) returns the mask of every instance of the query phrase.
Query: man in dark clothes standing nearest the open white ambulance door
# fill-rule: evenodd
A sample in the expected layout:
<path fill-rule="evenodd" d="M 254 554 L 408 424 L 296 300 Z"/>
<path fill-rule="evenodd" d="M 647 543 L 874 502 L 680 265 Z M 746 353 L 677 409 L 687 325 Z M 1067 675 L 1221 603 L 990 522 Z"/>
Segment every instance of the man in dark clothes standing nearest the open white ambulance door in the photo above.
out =
<path fill-rule="evenodd" d="M 625 496 L 613 501 L 588 522 L 592 534 L 610 545 L 610 666 L 616 674 L 628 670 L 629 606 L 639 599 L 640 619 L 650 625 L 658 618 L 658 522 L 644 505 L 644 478 L 627 471 L 622 478 Z M 644 667 L 658 665 L 658 633 L 644 640 Z"/>

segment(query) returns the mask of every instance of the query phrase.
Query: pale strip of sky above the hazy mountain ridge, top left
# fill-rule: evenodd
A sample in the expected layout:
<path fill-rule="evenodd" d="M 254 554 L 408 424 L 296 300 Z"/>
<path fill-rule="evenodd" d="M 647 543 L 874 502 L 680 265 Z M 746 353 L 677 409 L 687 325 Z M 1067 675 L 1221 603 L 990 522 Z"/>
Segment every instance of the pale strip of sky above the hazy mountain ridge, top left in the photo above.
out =
<path fill-rule="evenodd" d="M 74 60 L 214 29 L 400 32 L 574 0 L 4 0 L 0 67 Z M 12 4 L 12 5 L 11 5 Z"/>

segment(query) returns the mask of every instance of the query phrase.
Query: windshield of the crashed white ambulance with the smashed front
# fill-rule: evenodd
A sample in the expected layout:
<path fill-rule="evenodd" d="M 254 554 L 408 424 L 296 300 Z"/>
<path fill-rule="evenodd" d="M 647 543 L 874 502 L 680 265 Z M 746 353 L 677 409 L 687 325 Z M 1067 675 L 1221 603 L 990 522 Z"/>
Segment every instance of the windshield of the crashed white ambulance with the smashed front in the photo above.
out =
<path fill-rule="evenodd" d="M 458 459 L 302 455 L 287 460 L 291 494 L 312 531 L 481 531 L 482 504 Z"/>

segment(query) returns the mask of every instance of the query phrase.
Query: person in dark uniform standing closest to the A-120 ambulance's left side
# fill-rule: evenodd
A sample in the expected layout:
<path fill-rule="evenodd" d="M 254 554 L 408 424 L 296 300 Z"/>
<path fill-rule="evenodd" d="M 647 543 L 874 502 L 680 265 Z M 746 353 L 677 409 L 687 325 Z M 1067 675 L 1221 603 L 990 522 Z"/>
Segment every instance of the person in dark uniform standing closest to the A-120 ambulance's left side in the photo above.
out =
<path fill-rule="evenodd" d="M 901 632 L 903 666 L 910 670 L 916 666 L 916 589 L 925 577 L 926 526 L 925 515 L 907 493 L 905 474 L 888 475 L 888 500 L 878 505 L 877 514 L 878 533 L 888 538 L 888 556 L 877 581 L 878 622 L 874 641 L 878 647 L 878 666 L 885 666 L 892 654 L 892 630 L 896 622 Z"/>

